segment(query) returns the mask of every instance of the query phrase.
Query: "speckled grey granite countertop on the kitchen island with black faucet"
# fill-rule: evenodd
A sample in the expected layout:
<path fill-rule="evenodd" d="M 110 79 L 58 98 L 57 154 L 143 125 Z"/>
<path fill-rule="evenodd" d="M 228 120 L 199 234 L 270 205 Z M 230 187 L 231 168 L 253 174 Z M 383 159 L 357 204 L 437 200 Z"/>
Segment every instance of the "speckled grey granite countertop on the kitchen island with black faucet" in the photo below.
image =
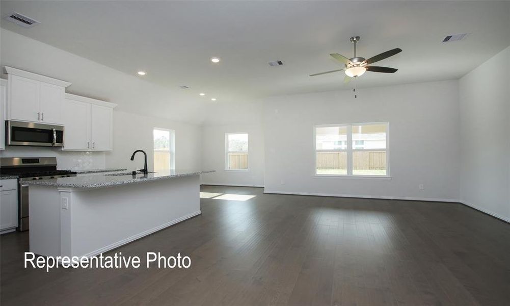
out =
<path fill-rule="evenodd" d="M 80 188 L 80 189 L 93 189 L 100 187 L 111 187 L 126 184 L 143 183 L 154 180 L 170 179 L 177 177 L 193 176 L 204 173 L 215 172 L 215 170 L 164 170 L 147 175 L 137 174 L 134 177 L 131 174 L 127 175 L 114 175 L 108 174 L 94 174 L 94 175 L 79 175 L 72 177 L 62 177 L 44 180 L 22 180 L 25 184 L 30 185 L 43 185 L 67 188 Z"/>

